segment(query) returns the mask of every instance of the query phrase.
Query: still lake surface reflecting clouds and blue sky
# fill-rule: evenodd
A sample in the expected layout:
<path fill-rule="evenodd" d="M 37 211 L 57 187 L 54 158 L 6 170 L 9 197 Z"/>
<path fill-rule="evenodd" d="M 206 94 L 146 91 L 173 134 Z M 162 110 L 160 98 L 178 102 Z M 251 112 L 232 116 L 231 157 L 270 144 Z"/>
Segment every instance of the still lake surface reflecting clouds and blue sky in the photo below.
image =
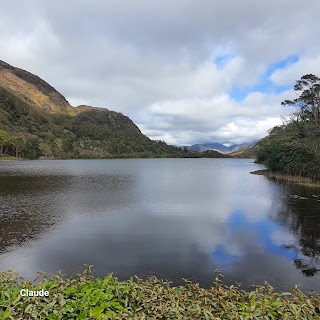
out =
<path fill-rule="evenodd" d="M 320 189 L 252 159 L 0 162 L 0 271 L 320 291 Z M 319 198 L 318 198 L 319 196 Z"/>

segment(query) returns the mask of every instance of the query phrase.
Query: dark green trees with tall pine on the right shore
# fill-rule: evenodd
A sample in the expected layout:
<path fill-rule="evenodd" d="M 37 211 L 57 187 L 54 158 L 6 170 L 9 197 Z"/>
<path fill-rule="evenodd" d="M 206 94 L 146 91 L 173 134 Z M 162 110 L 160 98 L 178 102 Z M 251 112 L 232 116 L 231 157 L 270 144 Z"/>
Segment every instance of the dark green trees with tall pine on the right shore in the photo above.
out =
<path fill-rule="evenodd" d="M 320 182 L 320 78 L 307 74 L 296 81 L 298 98 L 283 106 L 296 111 L 259 141 L 257 162 L 272 172 Z"/>

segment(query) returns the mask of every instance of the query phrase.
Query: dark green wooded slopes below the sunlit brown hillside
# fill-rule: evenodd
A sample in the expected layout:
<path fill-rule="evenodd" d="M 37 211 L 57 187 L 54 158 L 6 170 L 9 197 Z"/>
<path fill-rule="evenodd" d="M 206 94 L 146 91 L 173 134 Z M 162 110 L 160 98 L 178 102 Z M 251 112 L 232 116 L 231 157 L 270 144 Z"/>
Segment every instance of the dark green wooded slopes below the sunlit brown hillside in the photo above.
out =
<path fill-rule="evenodd" d="M 226 157 L 153 141 L 121 113 L 98 108 L 73 116 L 49 113 L 1 87 L 0 129 L 7 137 L 0 136 L 1 153 L 28 159 Z"/>

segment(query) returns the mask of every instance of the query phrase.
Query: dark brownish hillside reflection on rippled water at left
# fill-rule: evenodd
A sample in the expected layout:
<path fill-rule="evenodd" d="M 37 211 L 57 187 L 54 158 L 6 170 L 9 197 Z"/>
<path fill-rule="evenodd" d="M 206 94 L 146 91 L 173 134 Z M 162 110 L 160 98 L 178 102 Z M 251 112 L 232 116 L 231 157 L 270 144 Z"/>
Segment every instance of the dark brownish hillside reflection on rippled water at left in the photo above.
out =
<path fill-rule="evenodd" d="M 125 209 L 133 189 L 129 175 L 0 175 L 0 253 L 45 237 L 69 214 Z"/>

